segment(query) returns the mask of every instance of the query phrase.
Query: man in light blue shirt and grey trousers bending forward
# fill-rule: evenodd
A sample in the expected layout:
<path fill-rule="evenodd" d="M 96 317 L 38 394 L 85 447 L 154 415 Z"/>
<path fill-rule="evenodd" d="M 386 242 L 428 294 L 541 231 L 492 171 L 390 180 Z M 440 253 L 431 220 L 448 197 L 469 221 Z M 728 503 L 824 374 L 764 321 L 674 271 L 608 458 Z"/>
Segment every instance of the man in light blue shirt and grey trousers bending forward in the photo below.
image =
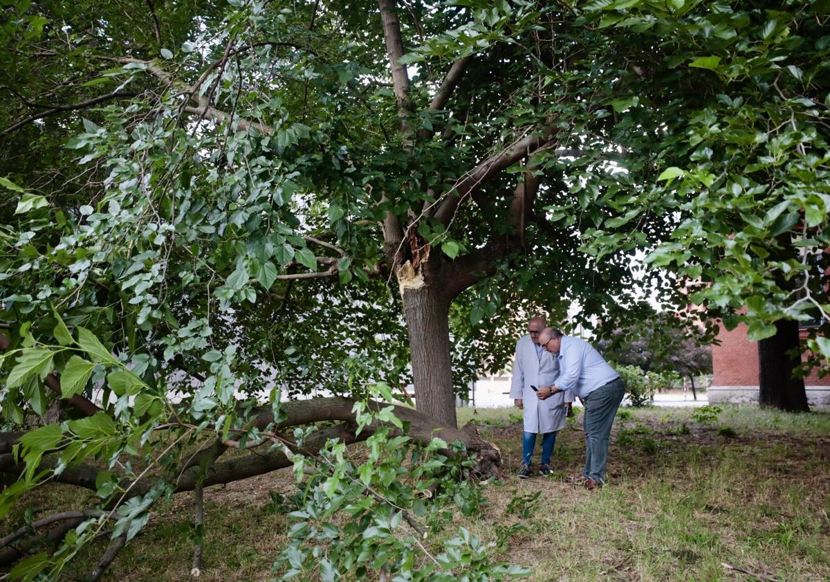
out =
<path fill-rule="evenodd" d="M 617 408 L 625 395 L 625 383 L 599 352 L 554 327 L 542 331 L 539 344 L 559 359 L 559 378 L 539 389 L 540 399 L 568 391 L 579 396 L 585 406 L 585 487 L 594 489 L 605 482 L 608 437 Z"/>

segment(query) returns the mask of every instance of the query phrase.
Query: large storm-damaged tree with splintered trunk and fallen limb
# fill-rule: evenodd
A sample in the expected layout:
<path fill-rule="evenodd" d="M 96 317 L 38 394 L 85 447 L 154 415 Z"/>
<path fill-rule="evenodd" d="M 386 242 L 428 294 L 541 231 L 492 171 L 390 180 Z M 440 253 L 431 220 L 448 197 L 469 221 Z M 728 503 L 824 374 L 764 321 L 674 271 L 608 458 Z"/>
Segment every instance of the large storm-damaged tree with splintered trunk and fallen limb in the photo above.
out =
<path fill-rule="evenodd" d="M 542 86 L 554 32 L 540 37 L 536 22 L 561 24 L 535 7 L 418 7 L 403 28 L 389 2 L 367 8 L 369 27 L 363 11 L 340 4 L 10 10 L 18 13 L 4 28 L 3 62 L 23 66 L 8 76 L 2 111 L 2 147 L 12 153 L 2 184 L 14 193 L 2 210 L 3 417 L 22 428 L 58 393 L 85 417 L 3 434 L 4 450 L 19 445 L 22 458 L 3 459 L 17 482 L 2 510 L 46 480 L 100 496 L 95 508 L 38 521 L 36 531 L 61 521 L 59 548 L 17 571 L 60 571 L 111 526 L 100 576 L 159 496 L 192 488 L 199 515 L 203 487 L 285 467 L 300 452 L 334 457 L 327 496 L 353 498 L 356 482 L 359 495 L 369 485 L 383 492 L 369 496 L 360 523 L 391 520 L 388 503 L 411 507 L 413 492 L 393 491 L 395 479 L 372 463 L 347 467 L 339 447 L 374 433 L 404 438 L 361 431 L 359 407 L 373 409 L 373 426 L 394 423 L 364 398 L 379 380 L 405 381 L 407 359 L 422 413 L 396 415 L 405 438 L 423 430 L 417 441 L 444 453 L 430 471 L 448 471 L 452 449 L 423 435 L 446 429 L 447 441 L 476 454 L 476 472 L 497 474 L 497 452 L 454 428 L 452 301 L 472 288 L 452 312 L 466 346 L 510 323 L 508 306 L 549 303 L 542 291 L 569 287 L 586 318 L 620 305 L 612 294 L 624 304 L 627 251 L 644 235 L 603 262 L 569 259 L 583 223 L 570 211 L 579 172 L 566 180 L 562 160 L 580 152 L 563 144 L 574 114 L 596 103 Z M 419 63 L 412 80 L 401 66 L 404 33 L 426 35 L 408 57 Z M 515 44 L 513 35 L 538 38 Z M 574 54 L 591 36 L 574 37 Z M 491 83 L 494 71 L 503 86 Z M 574 86 L 584 91 L 583 81 Z M 15 164 L 39 139 L 45 155 Z M 602 213 L 588 207 L 599 195 L 579 203 L 593 224 Z M 538 276 L 549 269 L 562 278 Z M 566 302 L 555 303 L 564 312 Z M 396 338 L 401 315 L 410 358 Z M 81 396 L 87 389 L 96 403 Z M 262 389 L 271 389 L 265 406 Z M 358 400 L 281 404 L 282 391 L 318 389 Z M 313 438 L 281 433 L 320 420 L 343 424 Z M 265 455 L 222 459 L 268 443 Z M 121 457 L 149 473 L 112 464 Z M 83 536 L 64 537 L 82 522 Z M 21 536 L 26 547 L 40 541 Z M 12 549 L 3 561 L 19 556 Z"/>

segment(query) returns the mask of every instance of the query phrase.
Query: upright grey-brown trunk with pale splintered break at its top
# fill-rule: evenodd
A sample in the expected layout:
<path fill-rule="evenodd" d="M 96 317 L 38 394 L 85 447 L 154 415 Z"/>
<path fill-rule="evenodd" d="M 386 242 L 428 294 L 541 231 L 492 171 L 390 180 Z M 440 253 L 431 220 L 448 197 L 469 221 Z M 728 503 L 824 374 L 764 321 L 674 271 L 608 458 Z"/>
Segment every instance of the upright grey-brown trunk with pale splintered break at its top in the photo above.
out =
<path fill-rule="evenodd" d="M 408 265 L 409 263 L 407 263 Z M 440 281 L 428 281 L 423 265 L 409 276 L 406 266 L 398 273 L 403 308 L 407 317 L 409 349 L 412 355 L 415 408 L 427 418 L 456 427 L 456 399 L 452 390 L 450 356 L 450 301 Z"/>

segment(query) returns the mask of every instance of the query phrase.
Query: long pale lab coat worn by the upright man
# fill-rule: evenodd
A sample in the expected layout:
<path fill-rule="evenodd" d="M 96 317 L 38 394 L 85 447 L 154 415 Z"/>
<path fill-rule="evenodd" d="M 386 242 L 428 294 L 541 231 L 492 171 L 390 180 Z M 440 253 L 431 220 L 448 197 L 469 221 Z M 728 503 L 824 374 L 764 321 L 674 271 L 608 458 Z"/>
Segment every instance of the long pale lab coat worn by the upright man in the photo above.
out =
<path fill-rule="evenodd" d="M 559 360 L 549 352 L 539 358 L 530 335 L 516 342 L 513 379 L 510 382 L 510 398 L 522 399 L 525 406 L 525 433 L 553 433 L 565 426 L 568 413 L 564 403 L 574 402 L 574 394 L 559 392 L 549 399 L 540 400 L 536 388 L 554 384 L 559 377 Z"/>

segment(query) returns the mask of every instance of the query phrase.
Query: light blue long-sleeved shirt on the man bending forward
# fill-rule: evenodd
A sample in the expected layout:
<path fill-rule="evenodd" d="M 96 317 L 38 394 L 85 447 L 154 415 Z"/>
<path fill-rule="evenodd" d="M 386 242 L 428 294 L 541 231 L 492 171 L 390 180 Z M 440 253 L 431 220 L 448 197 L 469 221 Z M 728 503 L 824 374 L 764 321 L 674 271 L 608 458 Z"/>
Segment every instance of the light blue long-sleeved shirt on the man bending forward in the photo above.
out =
<path fill-rule="evenodd" d="M 583 399 L 594 390 L 618 379 L 620 374 L 585 340 L 562 336 L 559 346 L 559 379 L 556 388 L 569 390 Z"/>

